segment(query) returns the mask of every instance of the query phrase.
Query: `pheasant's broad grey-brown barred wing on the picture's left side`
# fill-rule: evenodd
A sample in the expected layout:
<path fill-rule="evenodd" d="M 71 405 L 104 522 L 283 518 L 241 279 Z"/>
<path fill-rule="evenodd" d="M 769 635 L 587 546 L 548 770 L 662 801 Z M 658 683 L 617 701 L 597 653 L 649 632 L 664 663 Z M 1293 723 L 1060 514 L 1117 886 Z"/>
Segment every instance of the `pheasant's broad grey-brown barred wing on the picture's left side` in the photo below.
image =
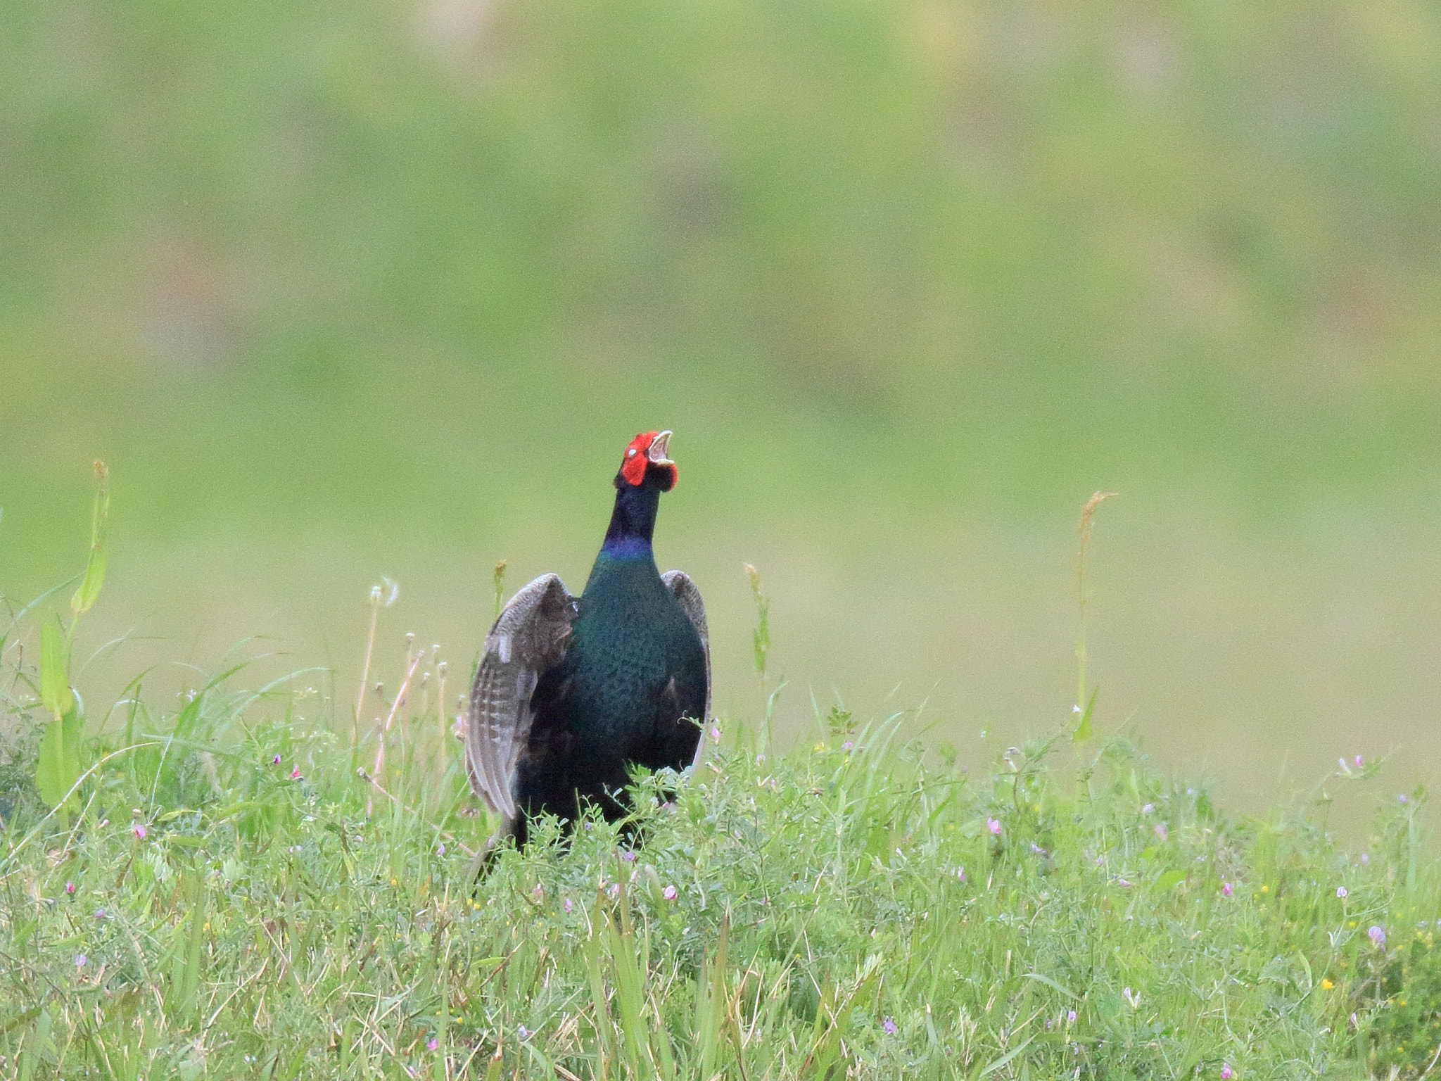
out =
<path fill-rule="evenodd" d="M 530 695 L 565 656 L 576 605 L 559 575 L 543 574 L 510 598 L 486 636 L 470 690 L 465 770 L 486 804 L 516 817 L 516 762 L 530 735 Z"/>

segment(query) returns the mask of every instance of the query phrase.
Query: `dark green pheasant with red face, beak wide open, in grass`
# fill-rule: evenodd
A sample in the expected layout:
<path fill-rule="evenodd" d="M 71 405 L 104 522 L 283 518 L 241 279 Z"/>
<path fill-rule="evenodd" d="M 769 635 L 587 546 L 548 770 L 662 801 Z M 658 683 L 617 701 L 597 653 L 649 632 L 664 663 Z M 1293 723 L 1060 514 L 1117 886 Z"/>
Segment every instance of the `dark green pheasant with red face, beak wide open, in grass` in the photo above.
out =
<path fill-rule="evenodd" d="M 644 432 L 615 474 L 615 509 L 579 597 L 559 575 L 520 590 L 486 637 L 465 731 L 471 788 L 501 816 L 487 853 L 523 846 L 529 823 L 574 823 L 588 804 L 628 813 L 635 767 L 680 771 L 710 711 L 710 646 L 700 592 L 660 574 L 651 533 L 676 486 L 670 432 Z"/>

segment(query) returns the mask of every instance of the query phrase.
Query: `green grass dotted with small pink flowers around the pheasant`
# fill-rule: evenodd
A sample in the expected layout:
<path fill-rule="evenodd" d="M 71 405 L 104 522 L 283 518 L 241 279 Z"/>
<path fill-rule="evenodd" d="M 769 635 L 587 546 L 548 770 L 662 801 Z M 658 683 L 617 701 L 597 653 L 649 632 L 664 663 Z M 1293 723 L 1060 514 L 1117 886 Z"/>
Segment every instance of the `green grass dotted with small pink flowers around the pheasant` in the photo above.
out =
<path fill-rule="evenodd" d="M 568 849 L 542 830 L 471 894 L 488 823 L 432 651 L 398 709 L 366 698 L 363 731 L 395 716 L 379 768 L 305 686 L 323 673 L 197 677 L 169 708 L 137 680 L 45 817 L 16 644 L 0 1071 L 22 1081 L 1415 1077 L 1441 1044 L 1422 794 L 1365 856 L 1319 817 L 1370 765 L 1233 822 L 1121 739 L 970 775 L 899 718 L 831 711 L 788 751 L 723 721 L 673 804 L 641 781 L 633 859 L 605 823 Z"/>

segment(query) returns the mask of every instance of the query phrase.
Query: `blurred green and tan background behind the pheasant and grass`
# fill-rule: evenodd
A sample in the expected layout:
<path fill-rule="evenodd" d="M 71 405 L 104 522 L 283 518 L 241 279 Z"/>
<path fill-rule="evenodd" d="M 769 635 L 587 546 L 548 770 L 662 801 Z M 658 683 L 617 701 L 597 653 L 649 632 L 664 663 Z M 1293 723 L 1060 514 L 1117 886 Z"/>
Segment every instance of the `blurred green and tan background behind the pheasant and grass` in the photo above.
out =
<path fill-rule="evenodd" d="M 0 588 L 105 458 L 92 695 L 347 686 L 382 574 L 467 667 L 669 427 L 722 711 L 749 561 L 793 731 L 1063 724 L 1107 489 L 1102 731 L 1241 806 L 1441 767 L 1432 3 L 13 0 L 0 99 Z"/>

